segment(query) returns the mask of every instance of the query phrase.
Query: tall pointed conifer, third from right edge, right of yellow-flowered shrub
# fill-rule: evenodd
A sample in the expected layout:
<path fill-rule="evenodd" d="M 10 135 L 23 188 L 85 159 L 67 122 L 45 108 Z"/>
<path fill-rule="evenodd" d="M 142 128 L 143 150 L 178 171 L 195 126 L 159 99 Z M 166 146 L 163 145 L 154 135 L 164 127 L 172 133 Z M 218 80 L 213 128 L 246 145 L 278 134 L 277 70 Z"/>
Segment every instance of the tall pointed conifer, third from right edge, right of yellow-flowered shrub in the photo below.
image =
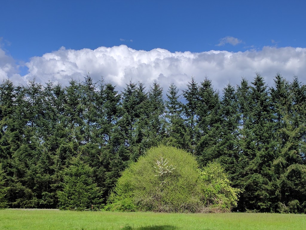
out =
<path fill-rule="evenodd" d="M 243 127 L 241 147 L 245 175 L 242 178 L 245 209 L 271 212 L 274 210 L 275 183 L 271 168 L 275 159 L 274 116 L 271 99 L 263 78 L 256 74 L 252 82 L 251 110 Z"/>

